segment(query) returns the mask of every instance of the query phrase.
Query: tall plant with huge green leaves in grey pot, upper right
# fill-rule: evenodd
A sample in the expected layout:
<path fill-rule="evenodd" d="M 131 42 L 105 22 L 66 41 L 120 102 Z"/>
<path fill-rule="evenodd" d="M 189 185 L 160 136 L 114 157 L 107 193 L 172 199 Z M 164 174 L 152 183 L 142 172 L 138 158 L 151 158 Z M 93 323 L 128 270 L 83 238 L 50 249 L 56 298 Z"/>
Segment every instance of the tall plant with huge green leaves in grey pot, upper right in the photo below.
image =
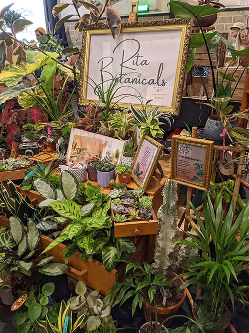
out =
<path fill-rule="evenodd" d="M 203 1 L 202 1 L 203 2 Z M 209 1 L 211 2 L 211 1 Z M 204 89 L 206 92 L 206 97 L 208 100 L 207 105 L 211 108 L 211 116 L 209 117 L 204 130 L 204 135 L 206 138 L 214 140 L 216 144 L 223 144 L 225 143 L 227 136 L 232 141 L 233 137 L 237 142 L 248 145 L 249 143 L 249 133 L 246 129 L 235 127 L 236 121 L 235 118 L 237 117 L 243 117 L 248 119 L 248 115 L 244 114 L 242 112 L 239 113 L 233 113 L 233 106 L 229 105 L 231 98 L 233 97 L 233 94 L 235 92 L 235 89 L 241 79 L 241 76 L 239 76 L 239 79 L 235 80 L 233 76 L 227 75 L 227 73 L 219 72 L 219 75 L 222 77 L 221 82 L 218 82 L 219 75 L 216 75 L 216 68 L 214 68 L 212 58 L 211 58 L 211 51 L 218 47 L 218 43 L 220 41 L 224 42 L 227 50 L 231 52 L 233 60 L 237 62 L 236 57 L 240 55 L 249 55 L 249 48 L 242 51 L 236 51 L 234 46 L 227 41 L 221 34 L 219 34 L 217 31 L 213 32 L 207 32 L 204 33 L 201 23 L 199 21 L 201 16 L 207 16 L 212 14 L 217 14 L 220 11 L 223 11 L 222 9 L 217 9 L 214 7 L 216 1 L 212 1 L 212 4 L 202 4 L 202 8 L 200 10 L 199 5 L 190 5 L 183 1 L 176 1 L 171 0 L 169 2 L 170 9 L 172 10 L 175 17 L 184 18 L 191 20 L 192 18 L 195 18 L 200 26 L 201 33 L 195 34 L 190 39 L 190 50 L 189 50 L 189 57 L 188 57 L 188 63 L 187 63 L 187 72 L 192 68 L 192 66 L 195 64 L 194 62 L 194 54 L 195 54 L 195 48 L 204 46 L 206 47 L 208 59 L 210 62 L 210 71 L 212 76 L 212 98 L 209 99 L 208 91 L 205 86 L 205 83 L 203 82 Z M 206 3 L 206 2 L 205 2 Z M 209 45 L 212 45 L 209 47 Z M 238 65 L 239 67 L 239 65 Z M 236 70 L 234 71 L 234 74 L 236 73 Z M 225 85 L 224 80 L 226 80 L 228 83 Z M 236 82 L 234 89 L 232 90 L 232 81 Z M 244 111 L 243 112 L 247 112 Z M 224 141 L 225 140 L 225 141 Z M 228 142 L 228 141 L 227 141 Z"/>

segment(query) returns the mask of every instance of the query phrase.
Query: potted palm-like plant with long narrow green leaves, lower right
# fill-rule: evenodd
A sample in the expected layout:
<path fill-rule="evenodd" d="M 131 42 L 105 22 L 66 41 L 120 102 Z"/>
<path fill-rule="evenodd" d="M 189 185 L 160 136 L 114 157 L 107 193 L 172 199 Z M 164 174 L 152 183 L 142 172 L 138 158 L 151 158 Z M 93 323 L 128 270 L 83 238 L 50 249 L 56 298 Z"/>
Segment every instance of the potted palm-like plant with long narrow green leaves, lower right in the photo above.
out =
<path fill-rule="evenodd" d="M 195 303 L 193 314 L 197 317 L 198 308 L 204 307 L 212 314 L 212 321 L 220 324 L 220 328 L 212 332 L 223 333 L 230 323 L 230 312 L 226 303 L 230 300 L 234 309 L 234 296 L 244 303 L 243 287 L 238 284 L 238 273 L 243 271 L 245 263 L 249 261 L 248 244 L 244 243 L 249 230 L 249 202 L 233 221 L 233 200 L 224 218 L 222 194 L 218 194 L 214 205 L 207 195 L 203 202 L 205 224 L 192 203 L 191 207 L 200 230 L 192 225 L 197 236 L 186 232 L 189 239 L 180 240 L 178 243 L 199 249 L 205 253 L 205 256 L 191 258 L 191 266 L 184 273 L 190 279 L 180 286 L 179 290 L 190 284 L 200 285 L 202 297 Z"/>

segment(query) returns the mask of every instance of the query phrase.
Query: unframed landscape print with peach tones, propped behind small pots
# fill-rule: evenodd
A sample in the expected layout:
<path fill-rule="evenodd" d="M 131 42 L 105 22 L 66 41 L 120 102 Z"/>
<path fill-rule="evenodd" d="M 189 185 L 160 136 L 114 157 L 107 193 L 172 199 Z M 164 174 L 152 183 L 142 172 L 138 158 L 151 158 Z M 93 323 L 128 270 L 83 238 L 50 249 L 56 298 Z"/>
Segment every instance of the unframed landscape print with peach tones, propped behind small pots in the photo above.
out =
<path fill-rule="evenodd" d="M 96 159 L 102 159 L 109 151 L 113 163 L 120 163 L 124 151 L 124 141 L 109 136 L 72 128 L 68 150 L 67 161 L 88 163 Z"/>

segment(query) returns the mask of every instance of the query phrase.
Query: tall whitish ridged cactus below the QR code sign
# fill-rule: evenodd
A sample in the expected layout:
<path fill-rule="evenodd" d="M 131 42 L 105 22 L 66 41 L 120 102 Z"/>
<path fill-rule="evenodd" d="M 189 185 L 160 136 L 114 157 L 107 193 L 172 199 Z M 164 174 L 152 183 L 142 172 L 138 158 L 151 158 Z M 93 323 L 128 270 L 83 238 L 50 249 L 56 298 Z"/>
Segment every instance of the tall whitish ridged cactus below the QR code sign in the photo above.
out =
<path fill-rule="evenodd" d="M 177 226 L 177 184 L 168 179 L 162 190 L 163 204 L 158 209 L 158 234 L 155 241 L 154 263 L 152 268 L 156 274 L 170 276 L 179 264 L 179 240 Z"/>

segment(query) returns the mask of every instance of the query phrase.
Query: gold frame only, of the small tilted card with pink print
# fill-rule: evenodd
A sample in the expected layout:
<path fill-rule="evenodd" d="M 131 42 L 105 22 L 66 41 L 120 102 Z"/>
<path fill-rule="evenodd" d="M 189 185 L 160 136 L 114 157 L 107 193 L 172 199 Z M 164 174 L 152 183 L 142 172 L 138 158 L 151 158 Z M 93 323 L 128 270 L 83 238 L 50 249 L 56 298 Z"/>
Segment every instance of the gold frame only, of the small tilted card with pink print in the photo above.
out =
<path fill-rule="evenodd" d="M 149 168 L 147 170 L 147 173 L 145 175 L 145 180 L 144 182 L 141 182 L 139 180 L 139 178 L 137 178 L 137 176 L 134 174 L 133 169 L 137 163 L 137 160 L 139 158 L 139 154 L 143 145 L 143 142 L 147 141 L 149 144 L 153 145 L 154 147 L 156 147 L 156 151 L 155 154 L 153 155 L 153 158 L 150 162 Z M 148 188 L 149 182 L 151 180 L 151 177 L 153 176 L 153 173 L 156 169 L 156 164 L 160 158 L 161 152 L 163 149 L 163 145 L 161 143 L 159 143 L 158 141 L 152 139 L 151 137 L 149 137 L 148 135 L 145 135 L 142 137 L 141 142 L 139 144 L 139 147 L 137 149 L 134 161 L 132 163 L 132 171 L 131 171 L 131 179 L 134 181 L 134 183 L 139 186 L 144 192 L 146 191 L 146 189 Z"/>

